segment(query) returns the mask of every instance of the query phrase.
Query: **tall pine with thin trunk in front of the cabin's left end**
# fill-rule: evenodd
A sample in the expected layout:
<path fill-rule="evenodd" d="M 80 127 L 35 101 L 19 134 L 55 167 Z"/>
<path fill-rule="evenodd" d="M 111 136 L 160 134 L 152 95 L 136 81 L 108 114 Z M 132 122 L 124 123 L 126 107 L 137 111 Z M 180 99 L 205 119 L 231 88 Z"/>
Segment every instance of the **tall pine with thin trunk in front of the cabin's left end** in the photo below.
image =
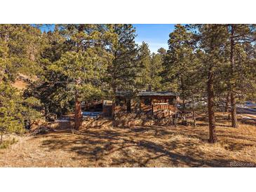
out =
<path fill-rule="evenodd" d="M 135 28 L 129 24 L 108 25 L 110 34 L 116 37 L 109 45 L 113 56 L 109 64 L 107 82 L 112 90 L 112 118 L 115 114 L 115 97 L 118 90 L 135 90 L 137 76 L 137 46 L 135 44 Z"/>

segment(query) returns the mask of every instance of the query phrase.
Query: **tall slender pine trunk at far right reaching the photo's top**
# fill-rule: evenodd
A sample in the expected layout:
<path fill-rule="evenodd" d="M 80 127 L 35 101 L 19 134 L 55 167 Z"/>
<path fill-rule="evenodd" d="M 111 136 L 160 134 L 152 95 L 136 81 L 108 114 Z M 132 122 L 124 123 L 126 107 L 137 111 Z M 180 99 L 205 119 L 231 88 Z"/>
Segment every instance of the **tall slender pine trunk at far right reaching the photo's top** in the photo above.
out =
<path fill-rule="evenodd" d="M 234 25 L 231 25 L 231 41 L 230 41 L 230 64 L 231 64 L 231 79 L 234 78 L 234 67 L 235 67 L 235 60 L 234 60 Z M 231 122 L 233 128 L 238 128 L 237 124 L 237 117 L 236 117 L 236 98 L 234 97 L 234 86 L 232 85 L 233 82 L 230 83 L 230 102 L 231 102 Z"/>

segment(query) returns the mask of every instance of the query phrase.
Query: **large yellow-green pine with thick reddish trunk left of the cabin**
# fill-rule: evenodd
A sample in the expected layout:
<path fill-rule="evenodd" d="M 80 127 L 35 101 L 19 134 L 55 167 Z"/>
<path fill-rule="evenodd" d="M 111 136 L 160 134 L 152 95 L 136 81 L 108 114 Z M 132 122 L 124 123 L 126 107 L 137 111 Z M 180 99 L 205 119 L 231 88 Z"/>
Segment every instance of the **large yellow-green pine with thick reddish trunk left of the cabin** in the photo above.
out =
<path fill-rule="evenodd" d="M 112 55 L 107 46 L 112 33 L 104 25 L 62 25 L 60 34 L 65 36 L 68 51 L 60 60 L 50 65 L 50 70 L 67 76 L 67 87 L 75 100 L 75 126 L 81 125 L 81 100 L 89 100 L 100 94 L 101 78 Z"/>

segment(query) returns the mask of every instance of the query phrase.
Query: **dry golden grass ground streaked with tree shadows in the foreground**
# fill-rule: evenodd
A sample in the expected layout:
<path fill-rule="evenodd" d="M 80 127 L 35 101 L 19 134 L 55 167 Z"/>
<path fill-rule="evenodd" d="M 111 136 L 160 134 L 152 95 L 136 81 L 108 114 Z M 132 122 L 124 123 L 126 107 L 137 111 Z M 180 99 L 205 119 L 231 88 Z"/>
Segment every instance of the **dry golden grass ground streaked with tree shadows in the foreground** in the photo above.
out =
<path fill-rule="evenodd" d="M 256 167 L 256 124 L 217 114 L 216 144 L 208 144 L 206 117 L 191 126 L 55 128 L 44 135 L 11 136 L 0 167 Z M 246 123 L 246 124 L 245 124 Z"/>

